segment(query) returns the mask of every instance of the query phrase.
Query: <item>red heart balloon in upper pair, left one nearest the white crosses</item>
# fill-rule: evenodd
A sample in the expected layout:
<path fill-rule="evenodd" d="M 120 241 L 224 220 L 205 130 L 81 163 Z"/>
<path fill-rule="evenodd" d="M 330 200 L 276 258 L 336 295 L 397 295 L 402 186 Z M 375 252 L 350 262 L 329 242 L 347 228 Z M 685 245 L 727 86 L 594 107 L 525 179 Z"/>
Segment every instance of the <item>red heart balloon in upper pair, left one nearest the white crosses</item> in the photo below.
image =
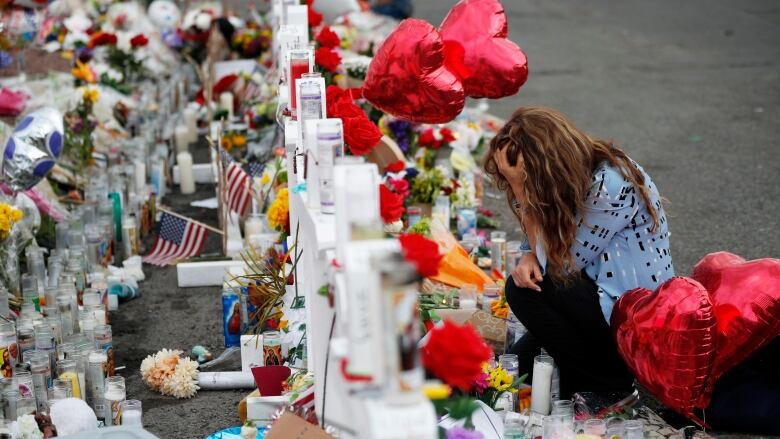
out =
<path fill-rule="evenodd" d="M 363 97 L 412 122 L 446 123 L 463 110 L 463 84 L 444 65 L 444 44 L 430 23 L 407 19 L 387 37 L 366 73 Z"/>

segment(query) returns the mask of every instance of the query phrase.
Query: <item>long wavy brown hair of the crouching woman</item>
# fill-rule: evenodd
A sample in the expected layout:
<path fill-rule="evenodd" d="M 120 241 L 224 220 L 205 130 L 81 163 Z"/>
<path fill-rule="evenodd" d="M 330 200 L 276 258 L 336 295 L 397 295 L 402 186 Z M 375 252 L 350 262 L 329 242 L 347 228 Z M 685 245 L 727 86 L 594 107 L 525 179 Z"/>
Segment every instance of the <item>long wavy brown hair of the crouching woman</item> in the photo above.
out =
<path fill-rule="evenodd" d="M 593 172 L 603 162 L 619 169 L 634 185 L 653 219 L 653 227 L 658 227 L 658 212 L 650 204 L 642 172 L 623 150 L 612 142 L 591 138 L 563 114 L 549 108 L 521 107 L 490 142 L 485 172 L 506 192 L 512 208 L 514 194 L 493 159 L 496 151 L 504 148 L 508 148 L 512 166 L 522 155 L 526 195 L 523 208 L 543 239 L 547 272 L 553 278 L 565 280 L 572 274 L 569 267 L 574 261 L 569 249 L 577 234 L 576 215 L 587 198 Z"/>

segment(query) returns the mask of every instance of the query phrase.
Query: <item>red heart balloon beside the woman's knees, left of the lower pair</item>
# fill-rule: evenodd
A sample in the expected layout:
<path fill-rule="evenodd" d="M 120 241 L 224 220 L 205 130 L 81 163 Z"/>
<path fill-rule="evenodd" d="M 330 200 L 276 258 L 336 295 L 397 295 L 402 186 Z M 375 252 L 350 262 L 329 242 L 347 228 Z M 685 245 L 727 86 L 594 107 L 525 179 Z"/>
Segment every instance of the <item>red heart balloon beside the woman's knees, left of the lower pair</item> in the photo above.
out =
<path fill-rule="evenodd" d="M 653 292 L 625 293 L 612 311 L 618 350 L 639 382 L 672 409 L 696 419 L 709 399 L 716 321 L 707 290 L 675 277 Z"/>

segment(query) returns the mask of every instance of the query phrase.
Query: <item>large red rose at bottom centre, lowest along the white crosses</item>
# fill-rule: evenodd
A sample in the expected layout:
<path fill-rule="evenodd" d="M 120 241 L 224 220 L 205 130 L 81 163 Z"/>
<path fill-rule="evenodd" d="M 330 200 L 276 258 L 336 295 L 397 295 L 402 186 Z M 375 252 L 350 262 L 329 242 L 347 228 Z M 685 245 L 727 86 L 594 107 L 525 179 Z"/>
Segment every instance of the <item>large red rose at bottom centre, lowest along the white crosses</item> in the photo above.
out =
<path fill-rule="evenodd" d="M 429 334 L 422 348 L 423 365 L 450 386 L 469 391 L 493 350 L 469 324 L 458 326 L 445 320 Z"/>

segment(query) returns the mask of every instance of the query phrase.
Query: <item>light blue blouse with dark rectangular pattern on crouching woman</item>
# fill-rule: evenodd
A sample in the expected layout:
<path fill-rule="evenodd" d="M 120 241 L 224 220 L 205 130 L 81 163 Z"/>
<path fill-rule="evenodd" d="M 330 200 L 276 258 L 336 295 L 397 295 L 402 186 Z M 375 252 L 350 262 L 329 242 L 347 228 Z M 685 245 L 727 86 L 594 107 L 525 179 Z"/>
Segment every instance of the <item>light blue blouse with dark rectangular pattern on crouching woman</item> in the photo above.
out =
<path fill-rule="evenodd" d="M 576 268 L 584 269 L 598 285 L 607 322 L 623 293 L 634 288 L 655 290 L 674 276 L 669 224 L 658 190 L 644 169 L 634 165 L 650 189 L 650 202 L 660 221 L 657 230 L 651 231 L 653 218 L 634 185 L 618 169 L 603 163 L 593 173 L 583 212 L 577 215 L 577 237 L 571 248 Z M 539 239 L 536 256 L 544 269 L 547 255 Z"/>

